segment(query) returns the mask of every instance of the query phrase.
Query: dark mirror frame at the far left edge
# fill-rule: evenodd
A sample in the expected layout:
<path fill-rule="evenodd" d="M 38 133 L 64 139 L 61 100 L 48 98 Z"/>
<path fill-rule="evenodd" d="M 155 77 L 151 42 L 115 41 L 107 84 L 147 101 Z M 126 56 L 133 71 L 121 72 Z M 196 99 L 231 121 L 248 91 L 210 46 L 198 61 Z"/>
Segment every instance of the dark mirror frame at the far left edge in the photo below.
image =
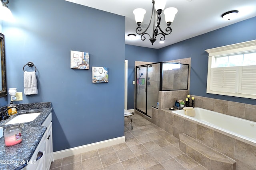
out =
<path fill-rule="evenodd" d="M 1 73 L 2 73 L 2 90 L 0 90 L 0 97 L 7 96 L 6 91 L 6 69 L 5 69 L 5 53 L 4 53 L 4 34 L 0 33 L 0 53 L 1 53 Z"/>

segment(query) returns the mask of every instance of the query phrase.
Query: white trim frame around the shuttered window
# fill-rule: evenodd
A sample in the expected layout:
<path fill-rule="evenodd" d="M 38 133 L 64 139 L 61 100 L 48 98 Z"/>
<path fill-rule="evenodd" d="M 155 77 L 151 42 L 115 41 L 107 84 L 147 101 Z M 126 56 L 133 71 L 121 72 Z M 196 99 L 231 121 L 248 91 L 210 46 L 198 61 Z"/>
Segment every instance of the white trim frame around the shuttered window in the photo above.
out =
<path fill-rule="evenodd" d="M 226 45 L 226 46 L 222 46 L 222 47 L 216 47 L 213 49 L 206 49 L 205 51 L 209 54 L 208 55 L 208 74 L 207 74 L 206 93 L 256 99 L 256 95 L 253 95 L 253 94 L 218 92 L 218 91 L 210 90 L 210 78 L 211 78 L 210 76 L 211 76 L 211 68 L 212 68 L 212 62 L 213 62 L 214 56 L 246 53 L 246 52 L 251 52 L 251 51 L 255 51 L 255 50 L 256 50 L 256 40 L 246 41 L 243 43 L 237 43 L 237 44 L 232 44 L 232 45 Z"/>

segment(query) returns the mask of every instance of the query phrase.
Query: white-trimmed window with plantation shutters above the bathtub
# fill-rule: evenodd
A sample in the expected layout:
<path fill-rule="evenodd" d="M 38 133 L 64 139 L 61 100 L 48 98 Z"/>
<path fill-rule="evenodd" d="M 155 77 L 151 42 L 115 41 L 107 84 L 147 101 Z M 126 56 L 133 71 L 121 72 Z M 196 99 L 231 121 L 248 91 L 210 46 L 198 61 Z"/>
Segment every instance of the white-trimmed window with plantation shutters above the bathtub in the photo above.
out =
<path fill-rule="evenodd" d="M 256 99 L 256 40 L 206 52 L 207 93 Z"/>

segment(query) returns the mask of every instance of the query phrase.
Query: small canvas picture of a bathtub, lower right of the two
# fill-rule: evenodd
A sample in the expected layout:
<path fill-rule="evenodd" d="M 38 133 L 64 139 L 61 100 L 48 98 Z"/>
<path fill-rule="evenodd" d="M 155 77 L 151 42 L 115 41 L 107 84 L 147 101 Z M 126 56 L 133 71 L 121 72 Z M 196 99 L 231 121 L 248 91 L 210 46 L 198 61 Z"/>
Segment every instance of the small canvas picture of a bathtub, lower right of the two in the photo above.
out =
<path fill-rule="evenodd" d="M 93 83 L 108 83 L 108 67 L 92 67 Z"/>

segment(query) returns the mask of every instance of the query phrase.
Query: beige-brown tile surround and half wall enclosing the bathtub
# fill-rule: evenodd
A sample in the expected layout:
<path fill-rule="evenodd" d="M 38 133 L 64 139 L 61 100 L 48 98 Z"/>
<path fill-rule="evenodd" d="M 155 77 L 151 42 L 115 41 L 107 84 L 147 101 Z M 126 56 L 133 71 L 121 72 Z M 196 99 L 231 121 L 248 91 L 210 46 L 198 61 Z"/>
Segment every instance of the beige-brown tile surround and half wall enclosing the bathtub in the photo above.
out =
<path fill-rule="evenodd" d="M 149 118 L 143 114 L 144 118 L 151 121 L 166 132 L 179 138 L 180 133 L 186 133 L 194 138 L 204 138 L 210 146 L 222 154 L 236 160 L 236 170 L 255 170 L 256 164 L 256 145 L 244 139 L 227 135 L 213 128 L 206 128 L 203 125 L 193 123 L 186 119 L 170 114 L 170 107 L 173 107 L 176 100 L 184 100 L 190 94 L 189 90 L 179 91 L 160 91 L 159 92 L 159 109 L 152 107 L 152 117 Z M 256 105 L 218 100 L 190 94 L 194 97 L 194 107 L 201 107 L 218 113 L 232 115 L 250 121 L 256 121 Z M 191 105 L 191 100 L 190 100 Z M 137 111 L 135 111 L 137 113 Z M 202 134 L 210 134 L 203 136 Z M 208 138 L 207 138 L 208 137 Z M 214 139 L 214 140 L 213 140 Z"/>

